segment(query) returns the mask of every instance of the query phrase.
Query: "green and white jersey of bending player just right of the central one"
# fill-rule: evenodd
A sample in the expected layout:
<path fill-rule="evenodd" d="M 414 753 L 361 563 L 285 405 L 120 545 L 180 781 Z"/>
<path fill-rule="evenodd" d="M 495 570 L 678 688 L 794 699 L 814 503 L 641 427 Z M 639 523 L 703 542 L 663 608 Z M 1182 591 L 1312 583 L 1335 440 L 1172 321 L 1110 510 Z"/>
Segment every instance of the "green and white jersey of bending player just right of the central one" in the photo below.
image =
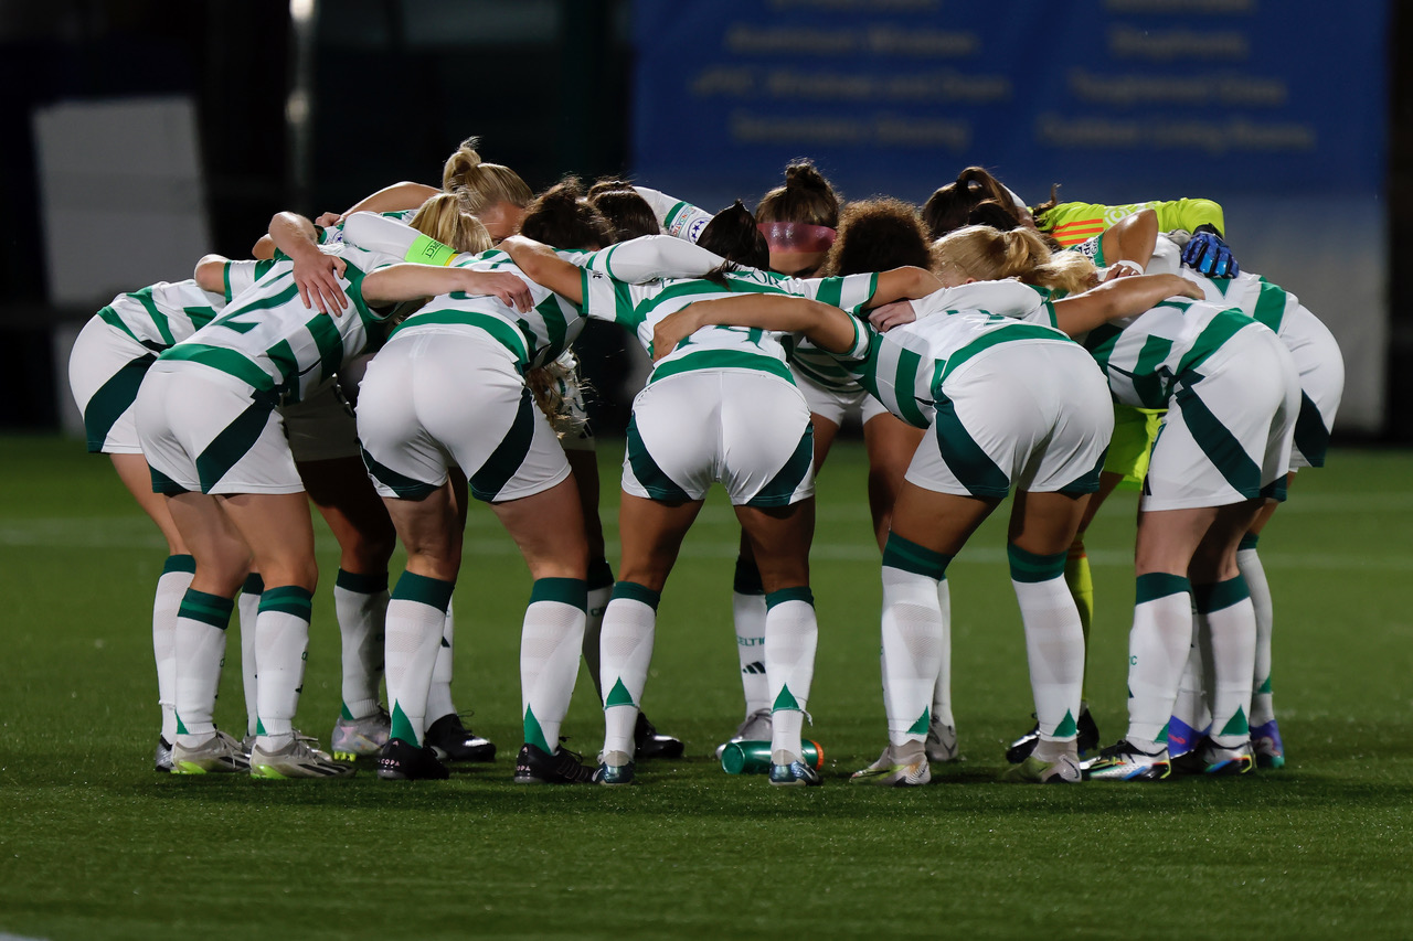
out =
<path fill-rule="evenodd" d="M 1054 329 L 1048 292 L 1020 281 L 978 281 L 913 301 L 917 319 L 879 333 L 866 324 L 868 352 L 839 357 L 870 396 L 917 428 L 927 428 L 951 376 L 1000 343 L 1070 343 Z M 1016 381 L 1024 381 L 1017 376 Z"/>

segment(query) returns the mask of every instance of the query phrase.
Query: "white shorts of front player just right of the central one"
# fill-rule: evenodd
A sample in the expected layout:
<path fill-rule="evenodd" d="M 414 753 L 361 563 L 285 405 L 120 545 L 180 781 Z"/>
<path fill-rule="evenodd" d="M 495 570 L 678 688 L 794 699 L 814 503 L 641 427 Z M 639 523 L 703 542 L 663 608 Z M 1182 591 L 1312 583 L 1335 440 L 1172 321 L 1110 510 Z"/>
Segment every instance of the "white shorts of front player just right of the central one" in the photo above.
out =
<path fill-rule="evenodd" d="M 948 376 L 907 482 L 959 496 L 1094 493 L 1113 434 L 1104 373 L 1078 343 L 998 343 Z"/>

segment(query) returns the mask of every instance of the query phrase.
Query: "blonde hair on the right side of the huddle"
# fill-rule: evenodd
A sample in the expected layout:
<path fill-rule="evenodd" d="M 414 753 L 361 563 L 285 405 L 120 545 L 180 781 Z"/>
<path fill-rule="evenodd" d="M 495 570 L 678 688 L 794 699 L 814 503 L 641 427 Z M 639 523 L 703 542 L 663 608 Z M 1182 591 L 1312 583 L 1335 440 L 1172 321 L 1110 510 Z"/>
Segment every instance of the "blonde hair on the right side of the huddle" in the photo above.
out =
<path fill-rule="evenodd" d="M 1095 268 L 1078 251 L 1051 253 L 1029 229 L 1000 232 L 965 226 L 933 243 L 933 273 L 951 270 L 978 281 L 1019 278 L 1026 284 L 1078 294 L 1095 284 Z"/>

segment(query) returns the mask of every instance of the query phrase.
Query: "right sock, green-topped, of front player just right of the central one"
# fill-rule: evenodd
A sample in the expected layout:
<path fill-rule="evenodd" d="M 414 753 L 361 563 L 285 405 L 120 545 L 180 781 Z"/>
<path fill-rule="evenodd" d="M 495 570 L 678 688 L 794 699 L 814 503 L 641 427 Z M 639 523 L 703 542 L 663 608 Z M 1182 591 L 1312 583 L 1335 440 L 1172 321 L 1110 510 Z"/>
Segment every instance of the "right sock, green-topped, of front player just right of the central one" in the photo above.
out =
<path fill-rule="evenodd" d="M 1026 660 L 1040 740 L 1068 742 L 1078 735 L 1075 722 L 1084 692 L 1084 626 L 1064 581 L 1070 552 L 1036 555 L 1015 544 L 1006 551 L 1010 586 L 1016 589 L 1026 629 Z"/>

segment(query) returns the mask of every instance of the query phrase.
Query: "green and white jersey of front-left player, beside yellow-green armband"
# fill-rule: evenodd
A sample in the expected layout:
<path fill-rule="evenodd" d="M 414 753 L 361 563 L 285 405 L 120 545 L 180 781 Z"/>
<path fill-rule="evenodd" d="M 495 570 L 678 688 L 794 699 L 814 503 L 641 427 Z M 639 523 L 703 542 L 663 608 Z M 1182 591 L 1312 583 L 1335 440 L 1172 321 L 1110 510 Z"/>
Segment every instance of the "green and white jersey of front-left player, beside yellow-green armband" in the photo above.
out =
<path fill-rule="evenodd" d="M 322 250 L 348 266 L 339 285 L 349 307 L 339 316 L 304 307 L 294 284 L 294 263 L 277 261 L 219 316 L 161 359 L 203 363 L 284 404 L 331 381 L 346 359 L 367 349 L 369 325 L 383 319 L 363 301 L 363 277 L 401 259 L 349 243 Z"/>

